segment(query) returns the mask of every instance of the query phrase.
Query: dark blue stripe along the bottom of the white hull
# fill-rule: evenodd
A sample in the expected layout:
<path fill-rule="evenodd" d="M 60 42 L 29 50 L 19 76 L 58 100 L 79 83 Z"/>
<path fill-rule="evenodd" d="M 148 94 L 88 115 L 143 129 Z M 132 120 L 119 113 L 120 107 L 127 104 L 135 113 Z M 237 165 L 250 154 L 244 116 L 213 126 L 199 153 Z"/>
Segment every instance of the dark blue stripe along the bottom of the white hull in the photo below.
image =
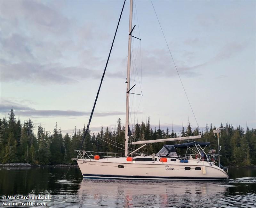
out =
<path fill-rule="evenodd" d="M 168 177 L 168 176 L 136 176 L 136 175 L 98 175 L 98 174 L 83 174 L 84 178 L 94 179 L 133 179 L 133 180 L 223 180 L 226 178 L 215 178 L 215 177 Z"/>

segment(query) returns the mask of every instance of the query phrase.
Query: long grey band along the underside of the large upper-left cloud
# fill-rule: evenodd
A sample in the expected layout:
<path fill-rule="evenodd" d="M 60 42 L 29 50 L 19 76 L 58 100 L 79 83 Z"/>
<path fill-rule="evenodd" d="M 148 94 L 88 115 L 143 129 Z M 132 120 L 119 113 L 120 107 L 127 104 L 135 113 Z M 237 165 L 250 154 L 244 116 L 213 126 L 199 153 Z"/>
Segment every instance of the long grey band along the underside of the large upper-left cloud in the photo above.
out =
<path fill-rule="evenodd" d="M 45 85 L 71 84 L 84 79 L 100 79 L 103 73 L 98 70 L 90 70 L 82 67 L 64 67 L 60 64 L 38 64 L 38 63 L 8 63 L 0 60 L 0 75 L 2 82 L 24 81 Z M 123 78 L 122 72 L 107 72 L 106 77 Z"/>

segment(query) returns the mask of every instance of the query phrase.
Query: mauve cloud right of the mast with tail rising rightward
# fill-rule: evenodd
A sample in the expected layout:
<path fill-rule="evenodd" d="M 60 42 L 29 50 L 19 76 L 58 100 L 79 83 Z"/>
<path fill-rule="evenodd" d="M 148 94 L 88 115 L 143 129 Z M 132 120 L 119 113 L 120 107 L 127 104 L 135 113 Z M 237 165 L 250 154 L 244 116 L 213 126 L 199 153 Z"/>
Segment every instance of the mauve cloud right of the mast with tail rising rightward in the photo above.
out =
<path fill-rule="evenodd" d="M 199 42 L 198 38 L 188 39 L 184 41 L 184 44 L 193 45 Z M 234 42 L 229 41 L 222 45 L 217 53 L 212 58 L 208 58 L 205 61 L 198 61 L 198 63 L 191 64 L 191 61 L 199 60 L 200 57 L 195 57 L 194 52 L 190 51 L 176 51 L 174 61 L 177 66 L 180 75 L 187 77 L 199 76 L 199 69 L 207 67 L 210 64 L 227 60 L 233 56 L 236 56 L 242 52 L 248 46 L 248 42 Z M 169 51 L 164 49 L 155 50 L 143 50 L 142 51 L 142 63 L 143 63 L 143 76 L 154 77 L 174 77 L 177 76 L 177 71 L 174 67 L 172 57 Z M 186 60 L 186 61 L 183 61 Z M 190 64 L 188 64 L 190 63 Z M 138 63 L 137 63 L 138 64 Z"/>

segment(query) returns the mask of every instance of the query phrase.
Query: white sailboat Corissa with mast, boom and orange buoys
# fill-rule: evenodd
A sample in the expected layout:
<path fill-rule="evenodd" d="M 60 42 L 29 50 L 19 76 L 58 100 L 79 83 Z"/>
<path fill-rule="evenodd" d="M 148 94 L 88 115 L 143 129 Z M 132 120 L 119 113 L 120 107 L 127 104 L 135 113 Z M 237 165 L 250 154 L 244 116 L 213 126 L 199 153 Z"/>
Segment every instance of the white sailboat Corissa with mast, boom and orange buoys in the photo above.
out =
<path fill-rule="evenodd" d="M 130 98 L 130 68 L 131 68 L 131 42 L 132 42 L 132 7 L 130 0 L 128 64 L 126 81 L 126 119 L 124 156 L 112 152 L 92 152 L 76 150 L 76 161 L 84 178 L 100 179 L 139 179 L 139 180 L 222 180 L 228 179 L 225 172 L 215 164 L 217 161 L 216 150 L 209 142 L 187 142 L 177 145 L 164 145 L 156 154 L 139 154 L 139 150 L 149 143 L 168 142 L 177 140 L 199 139 L 201 136 L 166 138 L 156 140 L 134 141 L 130 144 L 140 145 L 138 149 L 129 152 L 129 98 Z M 98 96 L 98 95 L 97 95 Z M 219 138 L 219 133 L 218 138 Z M 209 149 L 206 152 L 206 149 Z M 186 150 L 185 154 L 178 152 Z M 123 153 L 122 153 L 123 154 Z"/>

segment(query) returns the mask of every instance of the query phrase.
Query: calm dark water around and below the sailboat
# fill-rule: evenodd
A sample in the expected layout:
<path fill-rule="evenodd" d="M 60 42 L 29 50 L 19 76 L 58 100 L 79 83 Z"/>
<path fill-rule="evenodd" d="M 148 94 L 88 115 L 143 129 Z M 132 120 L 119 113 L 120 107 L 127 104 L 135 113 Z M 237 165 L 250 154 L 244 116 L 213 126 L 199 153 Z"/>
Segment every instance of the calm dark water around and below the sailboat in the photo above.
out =
<path fill-rule="evenodd" d="M 256 207 L 256 168 L 230 167 L 230 179 L 218 182 L 89 180 L 78 167 L 65 178 L 67 170 L 0 167 L 0 207 L 3 201 L 46 202 L 47 207 Z M 3 199 L 39 194 L 52 199 Z"/>

